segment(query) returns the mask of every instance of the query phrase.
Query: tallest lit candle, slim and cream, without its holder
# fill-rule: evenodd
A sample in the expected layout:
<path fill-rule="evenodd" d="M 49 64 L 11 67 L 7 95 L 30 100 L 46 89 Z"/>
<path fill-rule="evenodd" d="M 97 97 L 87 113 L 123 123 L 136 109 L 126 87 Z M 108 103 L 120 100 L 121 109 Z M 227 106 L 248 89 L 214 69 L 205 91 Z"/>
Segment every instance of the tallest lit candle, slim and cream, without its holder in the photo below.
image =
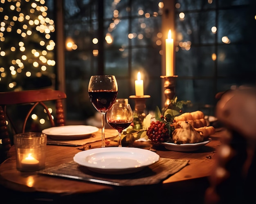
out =
<path fill-rule="evenodd" d="M 171 30 L 168 32 L 168 39 L 165 40 L 165 72 L 166 76 L 173 76 L 173 39 Z"/>

